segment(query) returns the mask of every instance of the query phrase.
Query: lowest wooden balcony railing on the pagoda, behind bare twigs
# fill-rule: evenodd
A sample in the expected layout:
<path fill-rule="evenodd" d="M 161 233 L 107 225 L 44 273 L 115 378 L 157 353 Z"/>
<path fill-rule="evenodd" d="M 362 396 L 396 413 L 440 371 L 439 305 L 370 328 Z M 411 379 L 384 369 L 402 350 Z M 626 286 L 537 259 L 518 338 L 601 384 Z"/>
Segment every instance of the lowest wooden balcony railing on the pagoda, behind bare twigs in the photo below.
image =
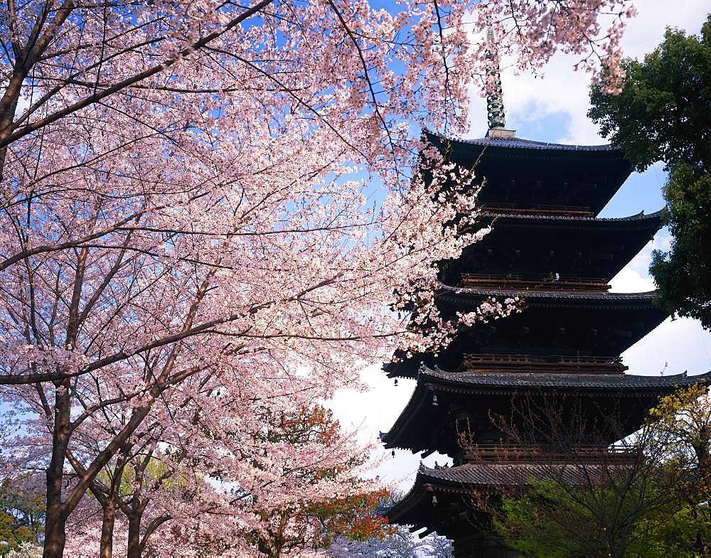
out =
<path fill-rule="evenodd" d="M 629 446 L 581 445 L 570 449 L 545 448 L 516 444 L 475 444 L 456 456 L 455 465 L 462 463 L 630 463 L 638 451 Z"/>

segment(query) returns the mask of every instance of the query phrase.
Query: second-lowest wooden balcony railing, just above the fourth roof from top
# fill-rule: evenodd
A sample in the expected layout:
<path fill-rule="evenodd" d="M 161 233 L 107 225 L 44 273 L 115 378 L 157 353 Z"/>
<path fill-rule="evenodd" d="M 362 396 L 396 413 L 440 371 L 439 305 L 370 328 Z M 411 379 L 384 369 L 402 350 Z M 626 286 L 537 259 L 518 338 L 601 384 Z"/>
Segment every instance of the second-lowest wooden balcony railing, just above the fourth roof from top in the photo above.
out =
<path fill-rule="evenodd" d="M 626 367 L 621 357 L 582 355 L 512 355 L 465 353 L 461 372 L 547 372 L 561 374 L 623 374 Z M 523 370 L 522 370 L 523 369 Z"/>

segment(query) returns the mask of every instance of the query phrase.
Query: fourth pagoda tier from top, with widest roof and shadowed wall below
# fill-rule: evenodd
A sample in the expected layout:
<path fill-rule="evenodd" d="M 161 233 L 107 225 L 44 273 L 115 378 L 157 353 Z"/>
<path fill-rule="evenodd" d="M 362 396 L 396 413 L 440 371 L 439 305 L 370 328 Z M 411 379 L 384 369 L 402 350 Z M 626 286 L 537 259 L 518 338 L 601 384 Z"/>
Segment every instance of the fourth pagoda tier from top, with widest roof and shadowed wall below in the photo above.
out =
<path fill-rule="evenodd" d="M 603 420 L 619 412 L 614 439 L 597 439 L 604 446 L 624 438 L 638 429 L 646 411 L 657 398 L 668 395 L 676 387 L 708 380 L 705 375 L 670 376 L 545 374 L 545 373 L 464 373 L 432 370 L 422 365 L 417 386 L 390 431 L 381 434 L 386 448 L 409 449 L 413 453 L 434 451 L 454 458 L 455 463 L 469 461 L 462 449 L 458 432 L 474 433 L 470 441 L 483 447 L 505 444 L 503 434 L 492 421 L 493 416 L 511 416 L 515 397 L 561 398 L 561 404 L 582 404 L 575 412 L 583 412 L 595 427 L 596 417 Z M 621 399 L 624 400 L 620 404 Z M 617 410 L 616 410 L 617 409 Z M 565 411 L 565 409 L 562 409 Z M 594 431 L 599 438 L 601 432 Z"/>

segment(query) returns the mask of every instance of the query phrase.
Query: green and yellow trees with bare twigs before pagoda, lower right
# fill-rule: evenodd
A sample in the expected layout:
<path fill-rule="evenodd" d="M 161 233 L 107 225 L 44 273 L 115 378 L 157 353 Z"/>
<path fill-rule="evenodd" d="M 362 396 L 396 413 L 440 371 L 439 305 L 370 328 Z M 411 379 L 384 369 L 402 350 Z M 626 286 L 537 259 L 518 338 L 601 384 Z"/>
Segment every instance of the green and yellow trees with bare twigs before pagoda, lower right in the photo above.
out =
<path fill-rule="evenodd" d="M 704 385 L 663 397 L 633 436 L 634 458 L 561 466 L 504 498 L 494 527 L 528 558 L 711 554 L 711 400 Z"/>

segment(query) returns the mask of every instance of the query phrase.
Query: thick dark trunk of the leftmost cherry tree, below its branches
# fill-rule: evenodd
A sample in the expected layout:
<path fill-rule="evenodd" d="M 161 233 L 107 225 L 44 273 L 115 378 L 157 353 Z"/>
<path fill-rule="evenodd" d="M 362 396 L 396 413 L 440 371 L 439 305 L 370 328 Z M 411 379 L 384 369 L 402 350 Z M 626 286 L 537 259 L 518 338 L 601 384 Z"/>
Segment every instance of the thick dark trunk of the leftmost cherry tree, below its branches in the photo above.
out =
<path fill-rule="evenodd" d="M 62 484 L 70 436 L 69 388 L 70 380 L 64 380 L 55 391 L 52 460 L 47 468 L 47 515 L 43 558 L 64 556 L 68 513 L 62 502 Z"/>

